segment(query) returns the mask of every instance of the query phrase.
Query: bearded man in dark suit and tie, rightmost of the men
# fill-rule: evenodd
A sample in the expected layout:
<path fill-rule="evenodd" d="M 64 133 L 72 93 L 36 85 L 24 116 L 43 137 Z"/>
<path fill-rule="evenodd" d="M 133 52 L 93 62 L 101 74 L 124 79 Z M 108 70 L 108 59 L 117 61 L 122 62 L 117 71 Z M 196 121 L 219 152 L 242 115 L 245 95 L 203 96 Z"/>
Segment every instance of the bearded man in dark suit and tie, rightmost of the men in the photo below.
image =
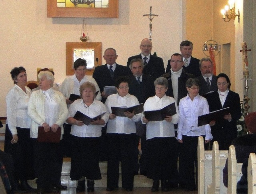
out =
<path fill-rule="evenodd" d="M 217 91 L 217 76 L 213 75 L 212 59 L 204 57 L 199 61 L 201 74 L 197 79 L 200 82 L 199 95 L 204 95 L 210 91 Z"/>

